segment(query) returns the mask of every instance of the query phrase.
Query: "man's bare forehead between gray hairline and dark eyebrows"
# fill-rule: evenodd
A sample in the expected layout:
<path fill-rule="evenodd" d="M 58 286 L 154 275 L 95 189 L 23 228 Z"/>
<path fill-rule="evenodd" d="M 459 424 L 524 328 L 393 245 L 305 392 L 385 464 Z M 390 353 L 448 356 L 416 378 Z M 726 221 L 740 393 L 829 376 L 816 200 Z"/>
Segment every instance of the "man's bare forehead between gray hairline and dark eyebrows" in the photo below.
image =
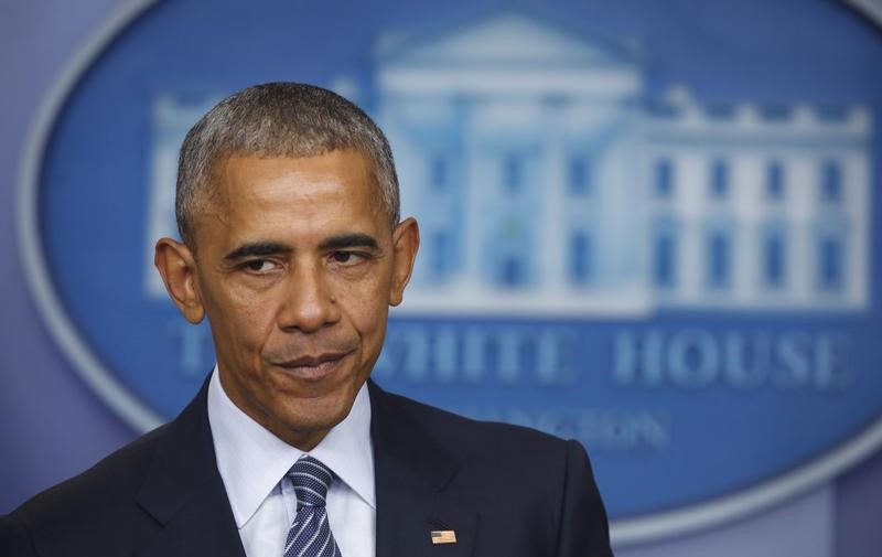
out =
<path fill-rule="evenodd" d="M 312 157 L 229 156 L 215 165 L 197 235 L 375 228 L 388 216 L 372 170 L 351 149 Z"/>

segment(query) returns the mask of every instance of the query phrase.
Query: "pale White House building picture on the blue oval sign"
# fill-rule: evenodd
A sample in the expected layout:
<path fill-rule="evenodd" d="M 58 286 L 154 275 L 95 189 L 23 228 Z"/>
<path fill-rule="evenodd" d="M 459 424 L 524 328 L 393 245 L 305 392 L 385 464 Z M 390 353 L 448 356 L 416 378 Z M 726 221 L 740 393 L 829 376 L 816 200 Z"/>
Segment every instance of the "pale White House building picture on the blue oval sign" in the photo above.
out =
<path fill-rule="evenodd" d="M 404 311 L 865 309 L 869 111 L 648 98 L 644 71 L 520 9 L 380 40 L 370 90 L 340 83 L 420 223 Z M 198 110 L 157 101 L 150 238 L 174 229 L 170 161 Z"/>

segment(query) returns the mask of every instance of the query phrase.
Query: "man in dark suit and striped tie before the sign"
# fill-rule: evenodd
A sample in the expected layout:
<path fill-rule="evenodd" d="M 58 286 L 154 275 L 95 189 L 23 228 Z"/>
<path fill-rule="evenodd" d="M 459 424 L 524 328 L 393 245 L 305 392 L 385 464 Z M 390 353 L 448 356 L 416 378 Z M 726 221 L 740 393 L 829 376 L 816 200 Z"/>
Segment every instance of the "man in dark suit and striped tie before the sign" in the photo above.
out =
<path fill-rule="evenodd" d="M 419 245 L 342 97 L 267 84 L 187 133 L 155 265 L 217 365 L 171 424 L 0 519 L 2 556 L 612 555 L 584 450 L 368 379 Z"/>

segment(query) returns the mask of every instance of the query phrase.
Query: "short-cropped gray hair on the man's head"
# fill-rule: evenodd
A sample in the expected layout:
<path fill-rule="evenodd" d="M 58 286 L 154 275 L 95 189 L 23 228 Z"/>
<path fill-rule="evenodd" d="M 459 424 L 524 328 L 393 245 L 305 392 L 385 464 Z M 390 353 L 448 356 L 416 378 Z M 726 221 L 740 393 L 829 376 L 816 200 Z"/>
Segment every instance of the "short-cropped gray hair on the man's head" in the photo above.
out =
<path fill-rule="evenodd" d="M 336 93 L 300 83 L 267 83 L 234 93 L 186 135 L 178 163 L 175 218 L 195 248 L 195 213 L 206 203 L 216 163 L 236 153 L 314 157 L 355 149 L 373 163 L 379 200 L 395 226 L 400 217 L 398 176 L 389 141 L 364 110 Z"/>

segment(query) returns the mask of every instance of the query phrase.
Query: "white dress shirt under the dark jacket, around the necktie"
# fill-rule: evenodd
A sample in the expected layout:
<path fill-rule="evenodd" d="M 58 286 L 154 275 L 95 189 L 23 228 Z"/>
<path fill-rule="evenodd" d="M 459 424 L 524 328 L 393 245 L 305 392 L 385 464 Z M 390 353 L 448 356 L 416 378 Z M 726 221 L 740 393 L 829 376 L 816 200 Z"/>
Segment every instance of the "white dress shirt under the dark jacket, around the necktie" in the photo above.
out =
<path fill-rule="evenodd" d="M 282 557 L 297 514 L 297 494 L 284 474 L 303 454 L 243 413 L 220 385 L 208 384 L 208 422 L 217 470 L 248 557 Z M 340 478 L 327 491 L 327 519 L 343 557 L 374 557 L 376 496 L 367 385 L 352 410 L 309 452 Z"/>

